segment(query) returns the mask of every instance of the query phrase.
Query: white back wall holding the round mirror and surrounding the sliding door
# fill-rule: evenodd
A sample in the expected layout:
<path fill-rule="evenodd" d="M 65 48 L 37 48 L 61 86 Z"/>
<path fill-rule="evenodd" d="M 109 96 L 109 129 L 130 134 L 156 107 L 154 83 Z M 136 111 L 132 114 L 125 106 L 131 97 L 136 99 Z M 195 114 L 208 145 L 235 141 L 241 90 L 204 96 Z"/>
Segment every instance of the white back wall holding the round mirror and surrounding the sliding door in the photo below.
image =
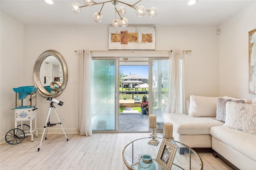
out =
<path fill-rule="evenodd" d="M 218 96 L 218 36 L 217 27 L 156 27 L 156 50 L 192 49 L 188 60 L 188 96 Z M 92 32 L 92 33 L 90 33 Z M 108 50 L 108 26 L 56 27 L 25 26 L 25 57 L 29 67 L 25 80 L 33 84 L 32 72 L 37 57 L 48 49 L 61 53 L 68 65 L 68 79 L 76 79 L 75 49 Z M 70 132 L 76 128 L 76 84 L 66 86 L 56 97 L 64 105 L 56 106 L 64 114 L 62 125 Z M 38 95 L 38 127 L 42 128 L 49 109 L 49 101 Z M 56 126 L 57 128 L 57 126 Z M 52 127 L 51 129 L 54 129 Z M 49 128 L 50 130 L 50 128 Z M 61 131 L 60 131 L 61 132 Z"/>

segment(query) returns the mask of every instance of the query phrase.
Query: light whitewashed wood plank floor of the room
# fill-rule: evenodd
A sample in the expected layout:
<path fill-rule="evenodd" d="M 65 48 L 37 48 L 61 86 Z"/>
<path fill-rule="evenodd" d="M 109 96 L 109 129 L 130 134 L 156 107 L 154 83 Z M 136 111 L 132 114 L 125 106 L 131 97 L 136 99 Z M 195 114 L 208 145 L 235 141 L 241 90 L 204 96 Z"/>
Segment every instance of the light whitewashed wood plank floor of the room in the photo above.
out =
<path fill-rule="evenodd" d="M 157 133 L 162 137 L 162 133 Z M 38 147 L 41 134 L 30 141 L 26 137 L 20 144 L 0 145 L 1 170 L 126 170 L 122 150 L 130 141 L 150 137 L 149 133 L 94 133 L 92 136 L 48 134 Z M 210 152 L 199 153 L 204 170 L 232 170 Z"/>

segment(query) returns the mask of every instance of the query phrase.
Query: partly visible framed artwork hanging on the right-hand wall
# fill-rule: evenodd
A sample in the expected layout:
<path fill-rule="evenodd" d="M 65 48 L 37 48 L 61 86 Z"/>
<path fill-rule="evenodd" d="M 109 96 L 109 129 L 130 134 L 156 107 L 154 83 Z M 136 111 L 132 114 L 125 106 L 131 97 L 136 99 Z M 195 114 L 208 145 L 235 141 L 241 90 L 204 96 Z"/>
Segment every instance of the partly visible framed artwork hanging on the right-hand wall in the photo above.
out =
<path fill-rule="evenodd" d="M 249 93 L 256 94 L 256 29 L 249 32 Z"/>

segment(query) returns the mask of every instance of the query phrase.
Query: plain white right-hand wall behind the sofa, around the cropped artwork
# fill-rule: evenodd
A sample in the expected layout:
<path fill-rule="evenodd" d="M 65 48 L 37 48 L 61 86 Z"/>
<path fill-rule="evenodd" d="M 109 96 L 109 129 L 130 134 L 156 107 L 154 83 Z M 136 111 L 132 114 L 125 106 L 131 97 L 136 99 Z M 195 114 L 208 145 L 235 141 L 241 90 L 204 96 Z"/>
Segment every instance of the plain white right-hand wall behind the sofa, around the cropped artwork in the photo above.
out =
<path fill-rule="evenodd" d="M 248 32 L 256 28 L 256 2 L 219 28 L 220 95 L 256 98 L 248 93 Z"/>

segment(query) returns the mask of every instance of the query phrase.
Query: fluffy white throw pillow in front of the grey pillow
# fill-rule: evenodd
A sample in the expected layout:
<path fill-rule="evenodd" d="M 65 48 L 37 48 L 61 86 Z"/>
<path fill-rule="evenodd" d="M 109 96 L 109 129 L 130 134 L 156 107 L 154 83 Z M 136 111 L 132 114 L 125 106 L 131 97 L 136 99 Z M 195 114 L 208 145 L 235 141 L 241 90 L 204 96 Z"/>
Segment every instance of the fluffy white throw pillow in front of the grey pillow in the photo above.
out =
<path fill-rule="evenodd" d="M 226 121 L 223 126 L 256 135 L 256 105 L 226 103 Z"/>

